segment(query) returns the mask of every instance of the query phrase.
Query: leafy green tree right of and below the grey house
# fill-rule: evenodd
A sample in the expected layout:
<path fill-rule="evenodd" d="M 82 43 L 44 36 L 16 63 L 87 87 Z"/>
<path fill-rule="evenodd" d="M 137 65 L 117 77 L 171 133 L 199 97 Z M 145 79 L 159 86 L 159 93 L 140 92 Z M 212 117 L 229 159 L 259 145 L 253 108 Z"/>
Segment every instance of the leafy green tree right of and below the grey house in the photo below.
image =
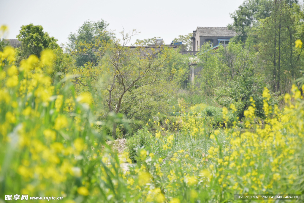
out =
<path fill-rule="evenodd" d="M 244 117 L 244 110 L 255 100 L 257 116 L 264 117 L 262 91 L 266 84 L 261 75 L 263 69 L 257 63 L 257 53 L 243 46 L 243 43 L 230 42 L 226 47 L 219 47 L 219 80 L 215 99 L 227 108 L 234 104 L 239 119 Z"/>

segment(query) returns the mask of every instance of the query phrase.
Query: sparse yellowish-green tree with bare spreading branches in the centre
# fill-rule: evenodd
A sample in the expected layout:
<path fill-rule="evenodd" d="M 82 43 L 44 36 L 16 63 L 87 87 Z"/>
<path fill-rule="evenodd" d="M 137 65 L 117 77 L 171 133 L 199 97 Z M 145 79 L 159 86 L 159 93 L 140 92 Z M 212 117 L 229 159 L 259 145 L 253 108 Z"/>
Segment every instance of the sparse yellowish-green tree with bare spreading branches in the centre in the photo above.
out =
<path fill-rule="evenodd" d="M 164 96 L 170 94 L 168 87 L 176 86 L 174 84 L 187 76 L 188 63 L 183 60 L 178 62 L 178 52 L 167 46 L 128 47 L 130 38 L 136 33 L 136 30 L 121 32 L 121 40 L 114 33 L 105 33 L 110 39 L 98 40 L 102 44 L 95 50 L 97 55 L 102 56 L 100 65 L 87 65 L 77 72 L 80 76 L 75 82 L 101 93 L 108 114 L 124 113 L 130 118 L 142 113 L 145 108 L 154 109 L 161 98 L 168 101 L 168 97 Z M 115 121 L 112 137 L 116 138 Z"/>

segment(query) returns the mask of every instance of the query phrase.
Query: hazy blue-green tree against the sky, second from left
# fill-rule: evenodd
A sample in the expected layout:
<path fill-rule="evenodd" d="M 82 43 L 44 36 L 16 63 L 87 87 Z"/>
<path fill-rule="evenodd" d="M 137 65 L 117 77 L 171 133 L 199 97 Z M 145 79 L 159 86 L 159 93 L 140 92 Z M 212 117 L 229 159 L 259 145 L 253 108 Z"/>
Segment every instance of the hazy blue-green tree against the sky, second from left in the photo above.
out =
<path fill-rule="evenodd" d="M 99 57 L 94 50 L 98 50 L 98 46 L 102 44 L 97 39 L 109 40 L 109 37 L 105 35 L 105 29 L 108 25 L 104 20 L 85 21 L 77 33 L 69 35 L 68 51 L 74 56 L 77 66 L 83 66 L 87 62 L 95 66 L 98 65 Z M 101 36 L 103 39 L 100 38 Z"/>

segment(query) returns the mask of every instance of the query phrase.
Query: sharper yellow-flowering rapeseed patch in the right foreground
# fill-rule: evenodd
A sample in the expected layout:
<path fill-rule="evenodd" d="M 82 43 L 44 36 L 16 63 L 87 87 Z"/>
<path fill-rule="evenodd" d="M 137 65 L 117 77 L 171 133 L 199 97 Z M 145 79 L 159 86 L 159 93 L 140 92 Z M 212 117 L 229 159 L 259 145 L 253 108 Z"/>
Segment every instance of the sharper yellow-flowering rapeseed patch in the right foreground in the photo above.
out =
<path fill-rule="evenodd" d="M 147 181 L 146 186 L 149 188 L 147 202 L 154 199 L 232 202 L 233 194 L 261 193 L 298 194 L 298 198 L 301 197 L 303 172 L 295 170 L 304 167 L 304 123 L 299 122 L 304 119 L 301 93 L 295 88 L 292 96 L 285 95 L 287 106 L 282 111 L 268 104 L 270 94 L 267 89 L 263 96 L 264 114 L 268 119 L 262 128 L 255 122 L 257 109 L 254 106 L 244 112 L 244 130 L 234 125 L 231 130 L 213 130 L 210 138 L 206 137 L 202 122 L 189 115 L 188 120 L 184 120 L 189 127 L 187 130 L 190 129 L 189 134 L 185 131 L 178 135 L 167 133 L 166 136 L 153 137 L 151 143 L 160 145 L 151 149 L 154 153 L 147 150 L 149 146 L 140 148 L 137 154 L 141 161 L 131 175 L 141 169 L 148 171 L 146 175 L 151 181 Z M 296 100 L 295 103 L 291 102 L 292 99 Z M 206 114 L 216 116 L 219 111 L 210 107 Z M 165 144 L 169 141 L 172 145 Z M 302 202 L 299 199 L 294 201 Z"/>

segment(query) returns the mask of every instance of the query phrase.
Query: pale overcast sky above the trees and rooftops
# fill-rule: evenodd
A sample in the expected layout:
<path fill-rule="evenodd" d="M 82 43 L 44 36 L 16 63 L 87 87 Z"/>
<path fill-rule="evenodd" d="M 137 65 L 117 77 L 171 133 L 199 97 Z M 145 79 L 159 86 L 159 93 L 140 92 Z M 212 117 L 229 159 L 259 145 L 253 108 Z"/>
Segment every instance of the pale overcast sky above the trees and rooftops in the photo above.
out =
<path fill-rule="evenodd" d="M 108 29 L 136 29 L 133 38 L 161 37 L 166 44 L 197 26 L 223 27 L 244 0 L 0 0 L 0 25 L 9 26 L 6 39 L 16 39 L 20 26 L 33 23 L 66 43 L 86 20 L 104 19 Z"/>

